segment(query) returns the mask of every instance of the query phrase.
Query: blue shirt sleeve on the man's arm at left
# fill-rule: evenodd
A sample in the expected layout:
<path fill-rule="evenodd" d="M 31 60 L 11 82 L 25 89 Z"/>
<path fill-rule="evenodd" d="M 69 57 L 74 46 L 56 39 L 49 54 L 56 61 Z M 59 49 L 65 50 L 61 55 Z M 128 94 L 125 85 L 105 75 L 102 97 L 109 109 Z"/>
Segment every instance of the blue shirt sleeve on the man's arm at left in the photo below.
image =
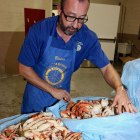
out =
<path fill-rule="evenodd" d="M 39 36 L 34 26 L 30 28 L 21 47 L 18 61 L 26 66 L 34 66 L 39 57 Z"/>

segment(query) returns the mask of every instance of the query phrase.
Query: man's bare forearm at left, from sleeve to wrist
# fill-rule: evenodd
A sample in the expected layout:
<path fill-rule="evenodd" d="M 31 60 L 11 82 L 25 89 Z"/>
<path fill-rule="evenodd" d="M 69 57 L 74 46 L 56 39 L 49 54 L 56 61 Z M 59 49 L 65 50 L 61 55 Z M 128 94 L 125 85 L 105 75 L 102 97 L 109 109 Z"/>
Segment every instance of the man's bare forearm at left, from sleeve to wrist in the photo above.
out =
<path fill-rule="evenodd" d="M 22 64 L 19 64 L 19 73 L 28 82 L 37 86 L 38 88 L 49 93 L 53 92 L 54 88 L 50 84 L 48 84 L 45 80 L 41 79 L 31 67 L 27 67 Z"/>

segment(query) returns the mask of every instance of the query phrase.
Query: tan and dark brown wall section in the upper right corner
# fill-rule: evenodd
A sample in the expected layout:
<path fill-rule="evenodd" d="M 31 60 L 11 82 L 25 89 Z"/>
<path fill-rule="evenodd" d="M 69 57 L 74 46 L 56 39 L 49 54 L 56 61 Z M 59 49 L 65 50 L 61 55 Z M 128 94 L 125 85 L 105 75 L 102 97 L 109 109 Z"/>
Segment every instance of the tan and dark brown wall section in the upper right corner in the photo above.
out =
<path fill-rule="evenodd" d="M 125 0 L 122 5 L 123 20 L 119 39 L 122 42 L 131 42 L 132 57 L 140 57 L 140 38 L 138 32 L 140 28 L 140 0 Z"/>

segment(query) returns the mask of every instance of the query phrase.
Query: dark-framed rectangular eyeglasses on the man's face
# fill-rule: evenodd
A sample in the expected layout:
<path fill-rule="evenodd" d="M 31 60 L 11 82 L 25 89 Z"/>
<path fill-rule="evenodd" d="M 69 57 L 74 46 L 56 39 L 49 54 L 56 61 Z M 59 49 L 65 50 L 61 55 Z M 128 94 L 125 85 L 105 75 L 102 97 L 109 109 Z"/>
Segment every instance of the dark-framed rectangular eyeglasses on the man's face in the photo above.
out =
<path fill-rule="evenodd" d="M 77 18 L 77 17 L 73 17 L 73 16 L 68 16 L 64 13 L 64 11 L 62 11 L 62 13 L 64 14 L 64 17 L 67 21 L 69 22 L 74 22 L 76 19 L 78 20 L 78 23 L 86 23 L 88 21 L 88 16 L 86 16 L 85 18 Z"/>

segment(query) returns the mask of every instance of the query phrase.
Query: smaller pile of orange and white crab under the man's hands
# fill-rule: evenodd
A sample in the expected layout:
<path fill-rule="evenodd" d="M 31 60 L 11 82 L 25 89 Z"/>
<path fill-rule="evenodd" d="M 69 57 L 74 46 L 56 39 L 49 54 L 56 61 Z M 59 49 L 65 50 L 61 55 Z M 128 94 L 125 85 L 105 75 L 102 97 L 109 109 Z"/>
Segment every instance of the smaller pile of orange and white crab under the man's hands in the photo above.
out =
<path fill-rule="evenodd" d="M 70 101 L 66 110 L 60 111 L 62 118 L 87 119 L 92 117 L 105 117 L 117 114 L 117 108 L 111 107 L 112 100 L 78 100 Z"/>

